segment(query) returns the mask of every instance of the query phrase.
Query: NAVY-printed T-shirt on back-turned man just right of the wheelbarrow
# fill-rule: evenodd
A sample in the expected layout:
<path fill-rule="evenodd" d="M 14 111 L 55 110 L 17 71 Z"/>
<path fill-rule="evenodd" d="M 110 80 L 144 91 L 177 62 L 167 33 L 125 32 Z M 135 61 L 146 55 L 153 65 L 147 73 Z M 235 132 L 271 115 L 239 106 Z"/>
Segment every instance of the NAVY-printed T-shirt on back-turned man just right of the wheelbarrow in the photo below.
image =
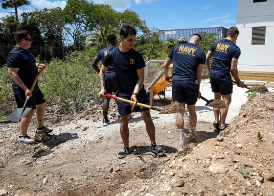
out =
<path fill-rule="evenodd" d="M 192 43 L 178 44 L 170 51 L 168 57 L 173 60 L 172 80 L 196 80 L 199 64 L 206 63 L 205 52 Z"/>

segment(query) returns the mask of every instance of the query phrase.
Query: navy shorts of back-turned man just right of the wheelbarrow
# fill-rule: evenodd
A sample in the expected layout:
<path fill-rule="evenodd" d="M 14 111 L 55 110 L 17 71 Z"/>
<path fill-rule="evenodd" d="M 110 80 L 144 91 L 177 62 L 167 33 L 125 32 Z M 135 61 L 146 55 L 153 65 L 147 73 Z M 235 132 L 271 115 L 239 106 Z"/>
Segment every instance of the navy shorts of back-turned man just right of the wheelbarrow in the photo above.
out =
<path fill-rule="evenodd" d="M 197 102 L 198 93 L 197 80 L 172 81 L 172 101 L 194 105 Z"/>

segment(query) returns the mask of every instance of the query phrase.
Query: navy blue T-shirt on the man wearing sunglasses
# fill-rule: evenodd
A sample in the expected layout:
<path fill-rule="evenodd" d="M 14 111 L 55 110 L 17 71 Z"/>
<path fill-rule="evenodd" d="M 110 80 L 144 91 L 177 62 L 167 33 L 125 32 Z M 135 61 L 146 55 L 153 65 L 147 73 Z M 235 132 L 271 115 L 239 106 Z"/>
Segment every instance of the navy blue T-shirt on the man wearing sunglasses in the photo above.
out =
<path fill-rule="evenodd" d="M 17 74 L 22 79 L 25 86 L 30 89 L 38 73 L 35 59 L 28 49 L 21 49 L 15 46 L 8 54 L 7 67 L 19 68 Z M 24 90 L 12 81 L 12 90 L 15 95 L 24 93 Z M 38 92 L 39 87 L 36 83 L 33 92 Z"/>

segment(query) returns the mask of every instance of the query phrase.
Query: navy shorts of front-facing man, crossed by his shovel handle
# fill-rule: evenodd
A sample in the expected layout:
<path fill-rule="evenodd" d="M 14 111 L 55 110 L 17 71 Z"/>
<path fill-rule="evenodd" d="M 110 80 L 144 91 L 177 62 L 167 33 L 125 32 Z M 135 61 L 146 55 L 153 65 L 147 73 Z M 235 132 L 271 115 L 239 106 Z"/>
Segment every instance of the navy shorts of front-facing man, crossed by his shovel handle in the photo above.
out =
<path fill-rule="evenodd" d="M 131 98 L 131 93 L 122 93 L 122 92 L 117 92 L 116 93 L 116 97 L 119 97 L 119 98 L 126 98 L 126 99 L 129 99 Z M 144 90 L 144 88 L 142 88 L 140 90 L 140 92 L 138 93 L 137 95 L 137 101 L 138 103 L 144 103 L 144 104 L 148 104 L 149 103 L 149 100 L 148 100 L 148 97 L 146 95 L 146 92 Z M 126 102 L 123 102 L 123 101 L 120 101 L 120 100 L 116 100 L 116 104 L 118 106 L 118 111 L 119 111 L 119 114 L 120 115 L 128 115 L 131 113 L 131 104 L 129 103 L 126 103 Z M 135 107 L 135 111 L 136 112 L 144 112 L 148 110 L 148 108 L 140 108 L 139 106 L 136 106 Z"/>

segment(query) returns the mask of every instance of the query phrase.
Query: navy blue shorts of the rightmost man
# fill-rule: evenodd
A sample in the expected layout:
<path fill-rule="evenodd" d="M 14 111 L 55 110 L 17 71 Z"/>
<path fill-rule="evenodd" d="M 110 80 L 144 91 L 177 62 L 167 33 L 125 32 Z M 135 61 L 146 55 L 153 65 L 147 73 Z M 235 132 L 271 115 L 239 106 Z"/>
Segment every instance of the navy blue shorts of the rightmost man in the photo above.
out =
<path fill-rule="evenodd" d="M 230 75 L 210 73 L 209 78 L 213 93 L 229 95 L 233 92 L 233 84 Z"/>

